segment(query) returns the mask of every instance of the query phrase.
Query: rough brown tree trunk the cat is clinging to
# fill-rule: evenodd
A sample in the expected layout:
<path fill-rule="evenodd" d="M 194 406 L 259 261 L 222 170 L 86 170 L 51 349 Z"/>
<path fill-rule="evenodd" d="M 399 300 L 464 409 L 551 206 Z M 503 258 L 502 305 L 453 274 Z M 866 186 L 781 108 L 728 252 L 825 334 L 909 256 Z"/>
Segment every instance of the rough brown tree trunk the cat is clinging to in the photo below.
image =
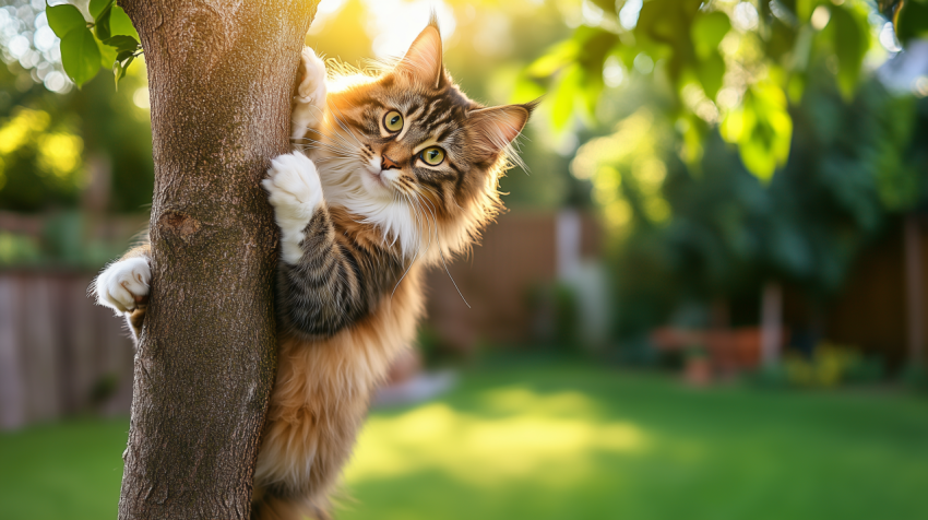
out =
<path fill-rule="evenodd" d="M 120 519 L 246 519 L 274 382 L 276 228 L 318 0 L 119 0 L 145 49 L 155 193 Z"/>

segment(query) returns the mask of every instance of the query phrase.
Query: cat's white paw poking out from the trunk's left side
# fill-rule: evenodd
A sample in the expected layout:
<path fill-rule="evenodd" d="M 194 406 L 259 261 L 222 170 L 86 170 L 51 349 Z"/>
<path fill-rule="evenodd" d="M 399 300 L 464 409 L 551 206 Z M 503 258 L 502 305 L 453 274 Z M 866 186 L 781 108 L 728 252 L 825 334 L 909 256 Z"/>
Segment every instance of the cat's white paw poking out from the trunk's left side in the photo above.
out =
<path fill-rule="evenodd" d="M 150 244 L 130 249 L 122 258 L 107 265 L 91 284 L 97 305 L 109 307 L 126 317 L 136 345 L 148 304 L 151 258 Z"/>

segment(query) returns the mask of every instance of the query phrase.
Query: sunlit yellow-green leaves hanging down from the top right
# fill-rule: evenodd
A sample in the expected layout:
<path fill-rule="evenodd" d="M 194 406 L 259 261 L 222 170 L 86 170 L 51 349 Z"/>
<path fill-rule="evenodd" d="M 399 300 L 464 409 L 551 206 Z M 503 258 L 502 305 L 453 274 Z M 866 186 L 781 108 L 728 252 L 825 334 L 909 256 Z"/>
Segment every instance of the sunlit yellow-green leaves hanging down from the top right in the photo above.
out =
<path fill-rule="evenodd" d="M 903 43 L 928 34 L 920 11 L 928 14 L 928 0 L 888 0 L 882 8 Z M 573 35 L 523 73 L 522 91 L 551 92 L 555 128 L 575 115 L 593 118 L 604 74 L 653 70 L 673 93 L 668 115 L 687 143 L 681 158 L 698 164 L 718 126 L 764 181 L 789 156 L 788 108 L 801 101 L 810 67 L 826 63 L 849 102 L 879 20 L 866 0 L 590 0 L 584 9 L 593 13 Z"/>

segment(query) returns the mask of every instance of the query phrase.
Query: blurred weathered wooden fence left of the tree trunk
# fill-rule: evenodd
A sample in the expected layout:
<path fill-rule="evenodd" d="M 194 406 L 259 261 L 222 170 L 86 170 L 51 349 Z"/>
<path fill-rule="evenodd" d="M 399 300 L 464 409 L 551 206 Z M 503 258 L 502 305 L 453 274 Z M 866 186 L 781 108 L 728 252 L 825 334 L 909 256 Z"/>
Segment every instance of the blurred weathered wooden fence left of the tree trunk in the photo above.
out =
<path fill-rule="evenodd" d="M 132 342 L 121 320 L 87 298 L 93 276 L 0 272 L 0 428 L 129 412 Z"/>

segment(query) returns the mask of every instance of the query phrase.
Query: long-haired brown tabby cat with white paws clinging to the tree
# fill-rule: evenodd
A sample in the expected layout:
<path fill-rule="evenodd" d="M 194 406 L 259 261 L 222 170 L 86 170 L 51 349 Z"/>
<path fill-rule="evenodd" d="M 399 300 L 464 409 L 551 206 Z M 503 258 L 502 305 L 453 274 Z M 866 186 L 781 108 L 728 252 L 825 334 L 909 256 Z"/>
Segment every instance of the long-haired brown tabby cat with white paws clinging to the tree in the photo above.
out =
<path fill-rule="evenodd" d="M 499 211 L 499 176 L 534 104 L 484 107 L 452 82 L 432 22 L 391 70 L 332 74 L 307 48 L 297 151 L 262 182 L 281 227 L 279 366 L 254 474 L 255 519 L 328 516 L 371 392 L 423 316 L 421 272 Z M 150 247 L 96 281 L 138 339 Z"/>

